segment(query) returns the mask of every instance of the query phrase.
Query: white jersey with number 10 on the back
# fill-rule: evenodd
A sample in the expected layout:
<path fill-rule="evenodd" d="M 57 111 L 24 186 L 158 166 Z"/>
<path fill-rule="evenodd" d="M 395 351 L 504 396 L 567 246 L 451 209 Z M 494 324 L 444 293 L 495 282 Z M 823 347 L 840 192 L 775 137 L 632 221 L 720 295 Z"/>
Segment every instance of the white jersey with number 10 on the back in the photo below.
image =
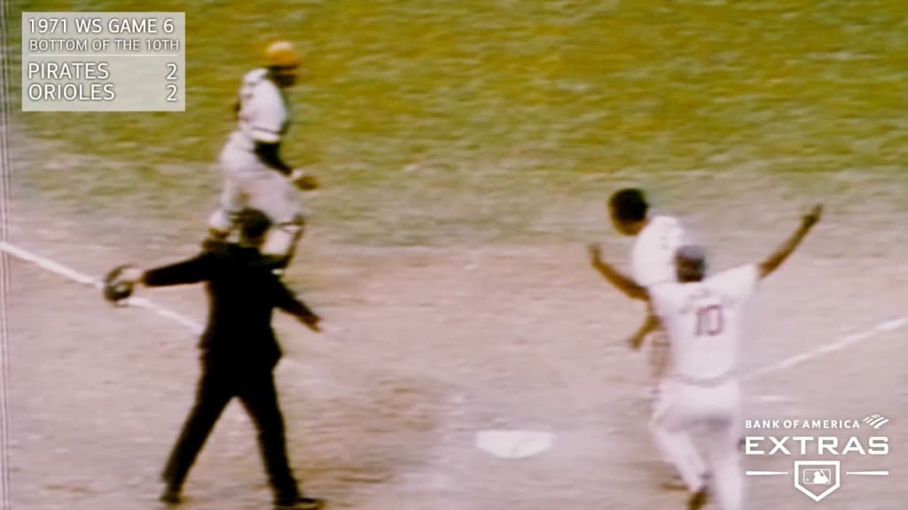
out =
<path fill-rule="evenodd" d="M 656 315 L 668 331 L 672 374 L 707 381 L 734 374 L 745 302 L 759 273 L 749 264 L 694 283 L 650 289 Z"/>

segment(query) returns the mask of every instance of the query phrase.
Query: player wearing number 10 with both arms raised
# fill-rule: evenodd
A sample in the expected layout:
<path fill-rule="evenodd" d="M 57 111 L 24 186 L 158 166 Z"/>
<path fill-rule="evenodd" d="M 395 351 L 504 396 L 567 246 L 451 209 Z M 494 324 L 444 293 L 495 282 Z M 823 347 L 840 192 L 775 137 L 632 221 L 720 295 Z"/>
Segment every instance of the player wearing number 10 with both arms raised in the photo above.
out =
<path fill-rule="evenodd" d="M 738 348 L 745 305 L 756 284 L 779 268 L 814 227 L 822 205 L 804 215 L 801 225 L 771 256 L 706 277 L 706 252 L 686 245 L 676 251 L 676 282 L 649 289 L 618 273 L 591 247 L 593 264 L 635 299 L 649 299 L 668 331 L 670 364 L 661 382 L 650 428 L 656 444 L 684 478 L 689 510 L 706 505 L 703 459 L 691 432 L 705 427 L 712 473 L 712 493 L 724 510 L 744 505 L 744 473 L 738 450 L 740 393 Z"/>

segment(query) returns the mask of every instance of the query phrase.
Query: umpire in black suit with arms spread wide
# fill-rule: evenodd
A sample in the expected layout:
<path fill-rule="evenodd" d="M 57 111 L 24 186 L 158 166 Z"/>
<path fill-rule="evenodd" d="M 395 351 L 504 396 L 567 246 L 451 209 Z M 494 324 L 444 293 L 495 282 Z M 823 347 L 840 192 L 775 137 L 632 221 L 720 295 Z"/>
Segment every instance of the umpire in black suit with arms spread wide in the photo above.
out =
<path fill-rule="evenodd" d="M 271 228 L 268 217 L 261 211 L 247 210 L 239 223 L 238 244 L 208 244 L 192 259 L 153 270 L 132 266 L 115 270 L 107 281 L 105 296 L 123 299 L 139 283 L 166 287 L 206 282 L 210 309 L 199 344 L 202 377 L 192 411 L 163 471 L 166 487 L 161 500 L 170 505 L 180 502 L 183 482 L 202 445 L 232 397 L 239 397 L 258 430 L 274 507 L 314 510 L 321 508 L 323 501 L 302 495 L 287 460 L 273 375 L 281 348 L 271 329 L 271 311 L 283 309 L 313 331 L 320 331 L 320 318 L 281 283 L 272 272 L 273 261 L 260 253 Z M 112 297 L 111 289 L 118 285 L 128 291 Z"/>

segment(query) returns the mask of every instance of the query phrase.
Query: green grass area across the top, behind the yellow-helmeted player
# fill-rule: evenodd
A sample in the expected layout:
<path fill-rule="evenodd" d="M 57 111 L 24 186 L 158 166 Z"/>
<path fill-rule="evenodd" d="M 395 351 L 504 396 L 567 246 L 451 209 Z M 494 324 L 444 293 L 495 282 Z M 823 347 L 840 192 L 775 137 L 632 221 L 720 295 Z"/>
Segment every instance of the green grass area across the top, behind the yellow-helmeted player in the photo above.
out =
<path fill-rule="evenodd" d="M 187 111 L 19 113 L 30 139 L 78 156 L 18 168 L 28 200 L 198 229 L 238 80 L 275 36 L 308 53 L 285 155 L 321 177 L 312 208 L 342 240 L 574 239 L 593 229 L 577 212 L 618 183 L 680 200 L 714 172 L 791 194 L 874 175 L 896 208 L 908 192 L 903 0 L 153 5 L 186 12 Z M 711 192 L 741 201 L 745 184 Z"/>

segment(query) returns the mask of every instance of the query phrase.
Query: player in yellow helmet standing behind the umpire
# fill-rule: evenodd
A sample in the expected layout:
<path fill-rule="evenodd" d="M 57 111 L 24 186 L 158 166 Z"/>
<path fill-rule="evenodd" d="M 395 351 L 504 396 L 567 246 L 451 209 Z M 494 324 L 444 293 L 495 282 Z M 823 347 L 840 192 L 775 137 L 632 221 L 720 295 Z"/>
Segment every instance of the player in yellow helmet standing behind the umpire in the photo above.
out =
<path fill-rule="evenodd" d="M 279 41 L 265 50 L 265 66 L 242 77 L 234 110 L 237 127 L 221 156 L 223 190 L 220 206 L 209 218 L 214 240 L 227 239 L 244 209 L 263 211 L 273 221 L 262 253 L 286 268 L 299 243 L 305 222 L 300 190 L 318 182 L 293 170 L 280 155 L 291 123 L 286 90 L 296 83 L 300 55 L 292 44 Z"/>

